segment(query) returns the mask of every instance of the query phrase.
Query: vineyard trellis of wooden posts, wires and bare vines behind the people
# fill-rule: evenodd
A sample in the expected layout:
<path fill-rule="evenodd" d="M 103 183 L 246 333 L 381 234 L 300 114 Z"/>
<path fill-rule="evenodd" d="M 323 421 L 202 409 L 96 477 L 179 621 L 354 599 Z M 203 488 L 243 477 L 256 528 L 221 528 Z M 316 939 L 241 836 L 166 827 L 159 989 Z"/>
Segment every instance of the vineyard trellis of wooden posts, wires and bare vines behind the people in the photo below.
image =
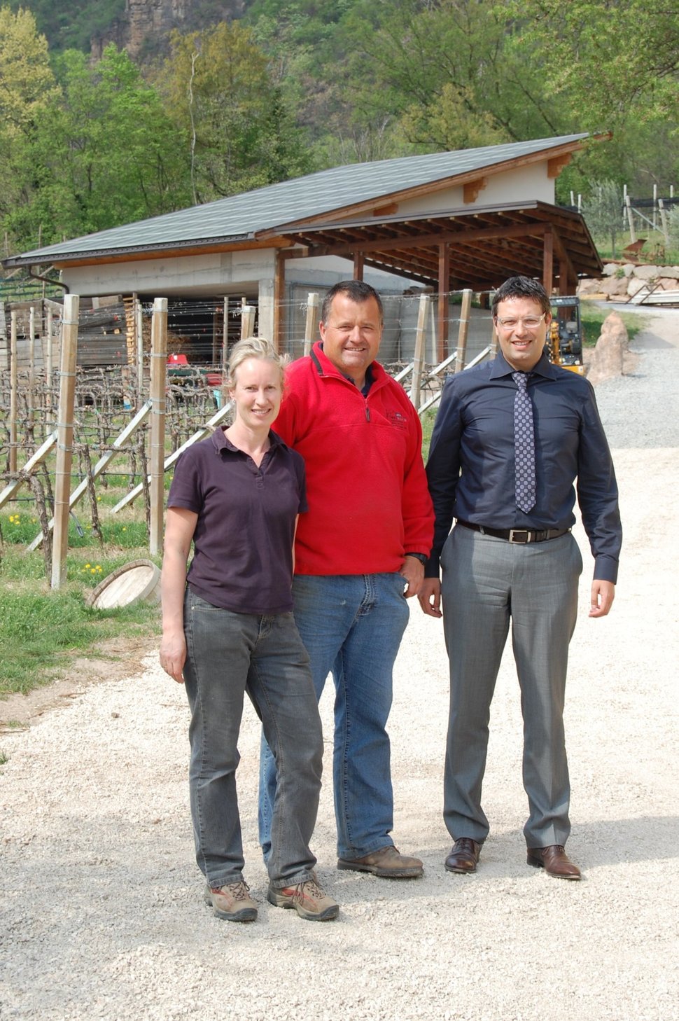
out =
<path fill-rule="evenodd" d="M 221 381 L 223 376 L 226 344 L 217 352 L 217 366 L 183 366 L 179 376 L 167 372 L 166 299 L 156 299 L 150 315 L 144 310 L 151 329 L 146 325 L 138 329 L 146 344 L 137 345 L 133 364 L 76 369 L 78 302 L 78 296 L 66 295 L 60 320 L 53 320 L 50 306 L 47 346 L 51 349 L 54 329 L 59 338 L 58 371 L 51 356 L 35 358 L 33 345 L 31 364 L 17 363 L 12 312 L 10 373 L 0 374 L 0 406 L 8 412 L 3 415 L 4 435 L 0 434 L 0 458 L 4 461 L 0 461 L 0 478 L 5 483 L 0 509 L 17 499 L 17 491 L 26 484 L 39 525 L 27 551 L 42 546 L 53 588 L 65 580 L 68 519 L 75 517 L 74 508 L 84 498 L 89 503 L 92 534 L 103 543 L 96 488 L 107 488 L 111 478 L 118 483 L 125 480 L 126 488 L 111 514 L 142 497 L 149 550 L 157 553 L 162 538 L 164 473 L 187 446 L 229 421 L 231 415 L 230 403 L 225 403 L 221 388 L 215 386 L 215 379 Z M 413 358 L 387 368 L 406 386 L 421 414 L 438 400 L 445 374 L 468 364 L 471 302 L 471 292 L 463 292 L 456 349 L 436 364 L 426 358 L 427 333 L 431 334 L 435 322 L 432 296 L 417 297 Z M 243 304 L 241 336 L 252 334 L 254 312 Z M 309 349 L 317 335 L 318 314 L 319 295 L 310 293 L 300 354 Z M 32 334 L 33 330 L 32 314 Z M 489 342 L 484 346 L 477 343 L 470 363 L 493 352 L 492 330 L 484 332 Z M 226 326 L 224 336 L 228 336 Z M 171 347 L 177 349 L 176 344 L 171 343 Z M 431 349 L 436 350 L 433 337 Z M 81 528 L 78 519 L 76 526 Z"/>

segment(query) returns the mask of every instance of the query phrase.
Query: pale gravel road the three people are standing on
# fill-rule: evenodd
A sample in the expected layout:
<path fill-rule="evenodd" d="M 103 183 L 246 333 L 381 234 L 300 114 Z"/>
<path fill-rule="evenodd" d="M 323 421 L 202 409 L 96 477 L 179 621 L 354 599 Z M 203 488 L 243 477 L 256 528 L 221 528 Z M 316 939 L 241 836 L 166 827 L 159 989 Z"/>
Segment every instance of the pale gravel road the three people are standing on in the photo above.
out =
<path fill-rule="evenodd" d="M 445 872 L 446 659 L 440 623 L 414 606 L 390 728 L 394 837 L 424 859 L 425 877 L 337 872 L 328 785 L 313 846 L 340 917 L 313 924 L 269 906 L 250 710 L 239 791 L 260 911 L 251 925 L 219 921 L 193 859 L 184 692 L 149 649 L 141 675 L 87 687 L 31 730 L 0 738 L 3 1021 L 677 1017 L 679 312 L 651 315 L 633 344 L 633 374 L 597 387 L 626 539 L 616 604 L 601 621 L 586 616 L 586 569 L 571 646 L 569 852 L 583 882 L 525 863 L 511 652 L 493 702 L 491 834 L 476 875 Z M 330 692 L 322 712 L 330 735 Z"/>

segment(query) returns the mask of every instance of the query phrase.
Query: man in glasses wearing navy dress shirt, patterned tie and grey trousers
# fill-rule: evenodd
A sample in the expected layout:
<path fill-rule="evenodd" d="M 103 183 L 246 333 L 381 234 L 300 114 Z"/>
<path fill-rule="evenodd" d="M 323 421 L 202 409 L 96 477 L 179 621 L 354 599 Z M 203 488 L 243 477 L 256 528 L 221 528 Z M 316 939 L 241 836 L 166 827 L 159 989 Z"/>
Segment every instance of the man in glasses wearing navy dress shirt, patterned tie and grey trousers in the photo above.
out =
<path fill-rule="evenodd" d="M 594 557 L 589 616 L 605 617 L 622 541 L 618 488 L 591 385 L 547 359 L 544 288 L 513 277 L 496 292 L 492 312 L 500 353 L 446 382 L 427 465 L 436 525 L 419 598 L 425 614 L 443 617 L 450 663 L 443 815 L 454 843 L 445 867 L 475 872 L 488 834 L 481 808 L 488 720 L 512 622 L 530 810 L 527 861 L 579 879 L 565 850 L 571 826 L 564 695 L 582 572 L 571 526 L 577 488 Z M 515 450 L 515 403 L 526 394 L 534 464 L 519 441 Z M 525 470 L 532 473 L 528 483 Z"/>

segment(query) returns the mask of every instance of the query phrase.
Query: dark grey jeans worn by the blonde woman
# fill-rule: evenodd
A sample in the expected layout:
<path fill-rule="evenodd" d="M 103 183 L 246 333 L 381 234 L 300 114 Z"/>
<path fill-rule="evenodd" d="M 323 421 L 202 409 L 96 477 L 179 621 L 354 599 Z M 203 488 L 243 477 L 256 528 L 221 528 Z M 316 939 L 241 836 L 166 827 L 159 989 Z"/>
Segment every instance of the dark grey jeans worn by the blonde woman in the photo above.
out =
<path fill-rule="evenodd" d="M 210 886 L 243 878 L 236 794 L 238 734 L 247 692 L 273 749 L 279 784 L 269 878 L 282 887 L 311 878 L 308 842 L 321 793 L 319 707 L 292 614 L 233 614 L 187 588 L 186 692 L 191 708 L 189 789 L 196 861 Z"/>

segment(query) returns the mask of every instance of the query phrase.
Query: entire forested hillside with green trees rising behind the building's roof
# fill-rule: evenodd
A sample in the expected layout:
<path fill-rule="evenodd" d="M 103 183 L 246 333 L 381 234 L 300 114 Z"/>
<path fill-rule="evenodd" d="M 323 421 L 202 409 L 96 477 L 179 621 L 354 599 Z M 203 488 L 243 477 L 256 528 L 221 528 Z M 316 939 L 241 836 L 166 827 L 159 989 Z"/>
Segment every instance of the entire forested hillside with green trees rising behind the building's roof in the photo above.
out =
<path fill-rule="evenodd" d="M 679 179 L 667 0 L 0 0 L 0 86 L 5 252 L 337 163 L 571 132 L 613 139 L 561 200 Z"/>

